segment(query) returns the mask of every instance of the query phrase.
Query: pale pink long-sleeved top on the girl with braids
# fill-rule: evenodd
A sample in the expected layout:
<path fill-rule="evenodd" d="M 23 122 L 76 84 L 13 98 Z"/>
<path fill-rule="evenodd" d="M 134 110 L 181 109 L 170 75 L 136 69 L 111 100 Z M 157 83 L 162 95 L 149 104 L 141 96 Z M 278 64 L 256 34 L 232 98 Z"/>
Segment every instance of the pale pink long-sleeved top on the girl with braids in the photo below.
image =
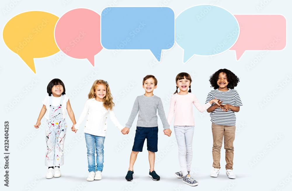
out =
<path fill-rule="evenodd" d="M 193 113 L 193 105 L 199 110 L 199 112 L 204 112 L 208 109 L 211 104 L 206 103 L 201 105 L 197 97 L 193 93 L 188 93 L 186 95 L 173 94 L 170 100 L 170 108 L 167 117 L 168 124 L 171 124 L 171 121 L 174 116 L 175 126 L 194 126 L 195 119 Z"/>

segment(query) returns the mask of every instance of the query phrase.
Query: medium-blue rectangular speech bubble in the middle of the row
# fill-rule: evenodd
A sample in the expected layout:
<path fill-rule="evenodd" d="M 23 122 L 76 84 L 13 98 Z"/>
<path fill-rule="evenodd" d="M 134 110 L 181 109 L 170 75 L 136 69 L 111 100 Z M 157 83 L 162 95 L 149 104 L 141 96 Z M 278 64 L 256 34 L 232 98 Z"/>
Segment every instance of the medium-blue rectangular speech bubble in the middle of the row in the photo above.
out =
<path fill-rule="evenodd" d="M 160 62 L 175 42 L 175 14 L 169 7 L 111 7 L 101 13 L 101 44 L 111 50 L 150 50 Z"/>

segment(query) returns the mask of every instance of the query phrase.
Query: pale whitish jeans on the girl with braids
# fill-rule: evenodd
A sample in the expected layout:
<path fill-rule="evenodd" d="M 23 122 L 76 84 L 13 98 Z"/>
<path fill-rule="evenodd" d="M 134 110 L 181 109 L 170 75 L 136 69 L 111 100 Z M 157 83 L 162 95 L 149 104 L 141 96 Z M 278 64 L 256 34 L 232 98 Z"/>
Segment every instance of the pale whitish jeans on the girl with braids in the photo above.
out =
<path fill-rule="evenodd" d="M 192 164 L 194 126 L 174 126 L 174 133 L 178 143 L 178 162 L 183 176 L 186 176 Z"/>

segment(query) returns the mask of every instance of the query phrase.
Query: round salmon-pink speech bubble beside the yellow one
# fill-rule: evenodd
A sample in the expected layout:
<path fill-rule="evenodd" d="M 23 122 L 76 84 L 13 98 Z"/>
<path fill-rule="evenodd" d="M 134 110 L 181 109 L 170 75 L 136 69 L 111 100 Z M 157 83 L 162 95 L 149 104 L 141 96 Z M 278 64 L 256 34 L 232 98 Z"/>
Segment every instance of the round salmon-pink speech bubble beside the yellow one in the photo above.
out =
<path fill-rule="evenodd" d="M 56 24 L 55 41 L 66 55 L 86 58 L 94 66 L 94 55 L 102 50 L 100 15 L 85 8 L 68 11 Z"/>

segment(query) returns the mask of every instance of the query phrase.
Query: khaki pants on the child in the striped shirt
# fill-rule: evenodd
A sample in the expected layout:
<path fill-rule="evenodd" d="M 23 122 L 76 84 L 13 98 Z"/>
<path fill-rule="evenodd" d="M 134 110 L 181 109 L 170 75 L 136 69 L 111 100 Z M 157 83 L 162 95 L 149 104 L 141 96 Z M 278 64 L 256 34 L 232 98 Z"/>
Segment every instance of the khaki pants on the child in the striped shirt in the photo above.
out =
<path fill-rule="evenodd" d="M 216 125 L 212 123 L 212 134 L 213 134 L 213 167 L 220 169 L 220 150 L 222 147 L 222 140 L 224 136 L 224 149 L 225 149 L 225 160 L 226 169 L 232 170 L 233 166 L 233 141 L 235 137 L 235 126 L 228 125 Z"/>

